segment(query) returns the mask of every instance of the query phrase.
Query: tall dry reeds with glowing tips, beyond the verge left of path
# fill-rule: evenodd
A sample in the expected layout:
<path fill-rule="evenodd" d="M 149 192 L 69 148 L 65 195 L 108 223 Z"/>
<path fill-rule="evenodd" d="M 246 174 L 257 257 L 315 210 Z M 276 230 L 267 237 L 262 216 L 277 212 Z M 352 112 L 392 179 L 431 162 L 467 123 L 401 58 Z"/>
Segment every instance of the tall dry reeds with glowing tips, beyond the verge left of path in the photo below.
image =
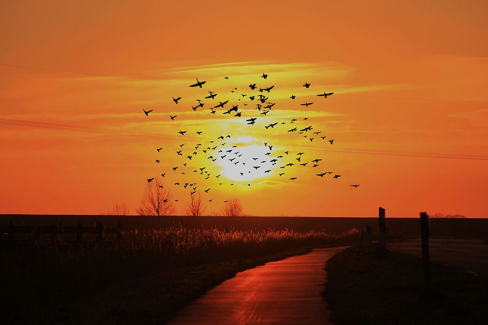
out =
<path fill-rule="evenodd" d="M 29 323 L 28 320 L 32 321 L 36 315 L 45 314 L 45 310 L 57 310 L 57 306 L 66 301 L 90 300 L 101 292 L 110 296 L 111 292 L 117 291 L 114 288 L 139 281 L 137 279 L 173 274 L 172 282 L 178 282 L 185 279 L 180 270 L 227 263 L 227 266 L 232 265 L 229 270 L 214 277 L 223 281 L 243 265 L 252 267 L 256 264 L 232 261 L 256 261 L 263 256 L 293 250 L 342 244 L 357 240 L 358 236 L 358 229 L 330 235 L 314 230 L 256 231 L 177 226 L 130 230 L 123 234 L 121 242 L 107 238 L 101 244 L 84 242 L 81 247 L 70 242 L 52 245 L 49 241 L 38 245 L 32 242 L 12 247 L 3 245 L 0 250 L 0 306 L 4 310 L 4 319 L 9 322 Z M 175 274 L 180 274 L 180 278 Z M 203 280 L 199 281 L 204 282 L 205 278 L 203 274 Z M 210 284 L 201 283 L 192 290 L 202 293 L 202 288 L 215 282 L 214 279 Z M 187 286 L 189 283 L 191 281 Z M 188 290 L 184 284 L 174 292 L 162 290 L 159 294 L 172 294 L 176 301 L 188 302 L 188 299 L 179 300 L 179 295 L 184 296 Z M 176 304 L 173 309 L 177 306 L 180 305 Z"/>

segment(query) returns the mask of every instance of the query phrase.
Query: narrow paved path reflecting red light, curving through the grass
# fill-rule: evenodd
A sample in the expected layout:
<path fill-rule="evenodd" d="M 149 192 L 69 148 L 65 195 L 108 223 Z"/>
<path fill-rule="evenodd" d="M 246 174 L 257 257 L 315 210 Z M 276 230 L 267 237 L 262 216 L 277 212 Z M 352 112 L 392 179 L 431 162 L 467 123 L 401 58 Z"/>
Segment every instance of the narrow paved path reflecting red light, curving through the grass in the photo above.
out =
<path fill-rule="evenodd" d="M 238 273 L 169 324 L 330 324 L 320 292 L 324 264 L 345 247 L 314 249 Z"/>

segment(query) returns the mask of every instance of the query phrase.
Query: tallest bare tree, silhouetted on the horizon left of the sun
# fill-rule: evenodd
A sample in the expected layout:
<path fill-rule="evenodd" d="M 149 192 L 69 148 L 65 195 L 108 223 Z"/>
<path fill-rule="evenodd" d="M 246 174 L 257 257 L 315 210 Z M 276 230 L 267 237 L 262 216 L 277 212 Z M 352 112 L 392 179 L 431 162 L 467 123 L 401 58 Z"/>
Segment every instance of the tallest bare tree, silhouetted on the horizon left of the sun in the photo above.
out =
<path fill-rule="evenodd" d="M 144 195 L 136 212 L 140 215 L 172 215 L 176 212 L 171 190 L 163 185 L 163 180 L 156 177 L 147 183 Z"/>

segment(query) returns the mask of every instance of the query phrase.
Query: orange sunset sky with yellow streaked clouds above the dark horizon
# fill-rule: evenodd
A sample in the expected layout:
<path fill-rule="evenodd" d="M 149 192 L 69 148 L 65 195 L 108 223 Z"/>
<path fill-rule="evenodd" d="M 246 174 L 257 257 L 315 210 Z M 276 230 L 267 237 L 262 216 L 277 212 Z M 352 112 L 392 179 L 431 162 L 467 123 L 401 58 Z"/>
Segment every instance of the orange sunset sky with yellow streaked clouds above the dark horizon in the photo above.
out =
<path fill-rule="evenodd" d="M 208 213 L 239 197 L 252 215 L 371 216 L 383 206 L 391 216 L 487 216 L 486 159 L 337 151 L 488 155 L 483 1 L 67 2 L 2 5 L 0 119 L 139 136 L 0 124 L 0 213 L 97 214 L 117 202 L 135 213 L 147 178 L 167 172 L 168 186 L 183 180 L 181 143 L 188 148 L 230 134 L 226 146 L 268 142 L 273 155 L 303 151 L 309 163 L 323 161 L 286 170 L 295 182 L 279 176 L 280 164 L 265 177 L 240 182 L 199 153 L 185 174 L 203 166 L 211 172 L 208 180 L 191 175 L 200 177 L 201 190 L 211 188 Z M 188 87 L 195 77 L 207 81 L 203 89 Z M 248 126 L 246 118 L 261 116 L 252 110 L 255 102 L 238 101 L 238 94 L 250 94 L 250 82 L 274 85 L 269 96 L 276 105 Z M 207 91 L 239 104 L 243 117 L 209 114 L 214 101 L 193 112 Z M 324 91 L 335 94 L 315 96 Z M 172 96 L 183 99 L 176 105 Z M 314 104 L 305 109 L 299 105 L 305 101 Z M 154 111 L 144 116 L 142 108 Z M 169 114 L 178 118 L 172 122 Z M 305 116 L 334 144 L 286 132 L 291 118 Z M 287 124 L 264 128 L 282 121 Z M 188 131 L 181 139 L 180 129 Z M 326 171 L 343 176 L 315 175 Z M 349 186 L 354 183 L 361 186 Z M 189 194 L 181 186 L 173 192 L 182 213 Z"/>

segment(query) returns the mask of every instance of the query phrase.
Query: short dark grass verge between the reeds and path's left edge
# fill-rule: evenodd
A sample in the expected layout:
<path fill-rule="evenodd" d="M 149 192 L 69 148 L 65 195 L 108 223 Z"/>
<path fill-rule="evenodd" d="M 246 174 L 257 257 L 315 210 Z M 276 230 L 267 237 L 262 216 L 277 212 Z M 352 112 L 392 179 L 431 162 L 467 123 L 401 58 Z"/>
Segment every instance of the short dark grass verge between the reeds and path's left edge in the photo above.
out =
<path fill-rule="evenodd" d="M 92 296 L 64 301 L 34 313 L 23 313 L 11 321 L 16 324 L 163 324 L 205 291 L 238 272 L 310 250 L 293 249 L 256 258 L 164 271 L 127 280 Z"/>

